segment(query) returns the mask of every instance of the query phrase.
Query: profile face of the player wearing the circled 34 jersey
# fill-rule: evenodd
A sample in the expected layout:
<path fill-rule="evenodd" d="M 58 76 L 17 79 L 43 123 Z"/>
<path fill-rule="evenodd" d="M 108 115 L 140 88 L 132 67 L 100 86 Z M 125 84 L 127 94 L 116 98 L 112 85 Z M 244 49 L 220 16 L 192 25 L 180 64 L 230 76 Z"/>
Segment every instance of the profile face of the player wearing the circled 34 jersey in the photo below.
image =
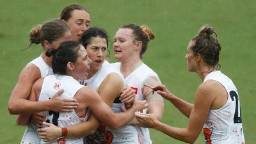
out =
<path fill-rule="evenodd" d="M 77 51 L 79 56 L 76 60 L 76 63 L 74 63 L 74 71 L 73 71 L 73 77 L 75 79 L 87 79 L 88 73 L 87 70 L 90 69 L 90 63 L 92 60 L 88 58 L 87 52 L 84 49 L 83 45 L 80 45 L 79 51 Z"/>

